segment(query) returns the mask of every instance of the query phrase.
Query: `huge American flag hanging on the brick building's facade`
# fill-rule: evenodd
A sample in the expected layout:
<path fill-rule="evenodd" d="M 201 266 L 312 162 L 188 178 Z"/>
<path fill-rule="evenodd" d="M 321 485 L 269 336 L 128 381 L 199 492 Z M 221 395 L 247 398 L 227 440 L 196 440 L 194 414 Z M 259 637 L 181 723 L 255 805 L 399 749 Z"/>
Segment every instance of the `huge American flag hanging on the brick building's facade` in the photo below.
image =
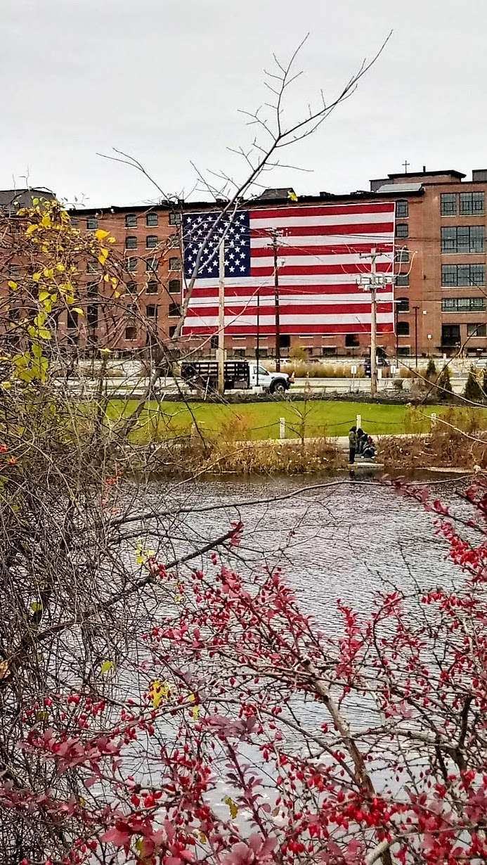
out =
<path fill-rule="evenodd" d="M 205 243 L 210 232 L 211 239 Z M 275 333 L 273 237 L 278 247 L 282 334 L 370 332 L 370 293 L 360 285 L 361 275 L 370 272 L 370 259 L 361 255 L 375 248 L 377 272 L 393 273 L 394 202 L 183 215 L 187 281 L 203 246 L 183 328 L 186 335 L 208 336 L 218 330 L 222 237 L 228 335 Z M 377 298 L 377 331 L 390 332 L 394 330 L 393 286 L 381 287 Z"/>

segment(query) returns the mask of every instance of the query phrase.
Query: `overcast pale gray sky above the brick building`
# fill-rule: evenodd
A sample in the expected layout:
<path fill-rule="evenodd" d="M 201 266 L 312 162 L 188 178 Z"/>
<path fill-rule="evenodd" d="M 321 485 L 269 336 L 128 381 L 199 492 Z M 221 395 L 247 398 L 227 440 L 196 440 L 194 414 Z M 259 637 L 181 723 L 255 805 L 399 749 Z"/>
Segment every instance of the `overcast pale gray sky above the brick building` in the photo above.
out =
<path fill-rule="evenodd" d="M 266 100 L 263 68 L 309 30 L 290 117 L 330 99 L 394 35 L 357 93 L 268 185 L 367 189 L 400 171 L 487 168 L 485 0 L 0 0 L 0 188 L 31 185 L 87 206 L 147 202 L 143 176 L 96 156 L 129 151 L 171 193 L 193 160 L 236 178 L 249 143 L 238 109 Z M 202 197 L 200 195 L 199 197 Z"/>

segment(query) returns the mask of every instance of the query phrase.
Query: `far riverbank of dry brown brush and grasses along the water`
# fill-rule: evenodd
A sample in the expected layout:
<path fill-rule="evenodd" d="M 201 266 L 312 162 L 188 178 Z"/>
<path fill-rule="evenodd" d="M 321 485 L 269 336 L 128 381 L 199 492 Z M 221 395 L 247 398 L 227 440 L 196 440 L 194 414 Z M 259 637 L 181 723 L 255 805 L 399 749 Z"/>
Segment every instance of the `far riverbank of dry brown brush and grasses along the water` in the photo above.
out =
<path fill-rule="evenodd" d="M 379 474 L 431 468 L 478 471 L 476 466 L 487 469 L 487 433 L 478 430 L 477 411 L 442 408 L 433 429 L 431 418 L 421 407 L 408 410 L 401 427 L 406 426 L 407 433 L 374 434 L 377 457 L 372 471 Z M 208 434 L 202 423 L 194 422 L 189 434 L 123 447 L 116 461 L 120 471 L 143 471 L 158 477 L 298 475 L 348 468 L 347 433 L 356 418 L 345 422 L 342 435 L 315 437 L 306 435 L 309 426 L 300 420 L 300 438 L 294 428 L 293 438 L 259 440 L 251 439 L 247 426 L 233 415 L 218 434 Z M 367 432 L 374 433 L 367 415 L 361 422 Z M 430 430 L 423 432 L 426 425 Z M 356 465 L 361 468 L 364 461 L 357 457 Z"/>

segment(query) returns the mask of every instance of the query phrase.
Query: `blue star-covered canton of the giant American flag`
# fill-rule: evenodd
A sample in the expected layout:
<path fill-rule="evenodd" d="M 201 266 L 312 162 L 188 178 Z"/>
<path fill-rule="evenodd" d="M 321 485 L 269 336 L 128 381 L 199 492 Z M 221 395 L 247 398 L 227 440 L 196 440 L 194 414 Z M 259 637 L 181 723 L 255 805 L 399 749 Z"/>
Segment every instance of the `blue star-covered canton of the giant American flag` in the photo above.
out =
<path fill-rule="evenodd" d="M 196 256 L 219 217 L 221 213 L 183 215 L 184 272 L 187 279 L 193 276 Z M 250 221 L 248 212 L 245 212 L 225 214 L 220 218 L 211 238 L 204 244 L 198 279 L 218 278 L 219 247 L 223 236 L 225 276 L 250 276 Z"/>

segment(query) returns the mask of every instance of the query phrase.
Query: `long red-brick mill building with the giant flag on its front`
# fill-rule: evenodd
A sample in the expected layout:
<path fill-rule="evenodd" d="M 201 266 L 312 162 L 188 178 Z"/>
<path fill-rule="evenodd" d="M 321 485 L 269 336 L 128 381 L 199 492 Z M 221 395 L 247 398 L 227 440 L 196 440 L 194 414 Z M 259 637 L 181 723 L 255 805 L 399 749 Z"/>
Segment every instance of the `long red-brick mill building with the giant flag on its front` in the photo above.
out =
<path fill-rule="evenodd" d="M 456 170 L 390 174 L 372 180 L 368 191 L 349 195 L 303 195 L 291 202 L 286 189 L 266 190 L 252 207 L 273 204 L 298 208 L 313 203 L 394 200 L 396 205 L 396 334 L 381 336 L 379 345 L 393 356 L 449 354 L 462 346 L 477 355 L 487 348 L 485 306 L 485 192 L 487 170 L 474 171 L 471 181 Z M 242 204 L 245 207 L 245 203 Z M 131 354 L 143 349 L 149 334 L 163 339 L 174 333 L 182 300 L 180 232 L 182 209 L 215 208 L 208 202 L 153 207 L 77 209 L 72 218 L 81 229 L 103 227 L 117 239 L 125 258 L 125 321 L 112 348 Z M 96 270 L 87 273 L 96 285 Z M 133 314 L 134 301 L 138 315 Z M 92 324 L 95 324 L 93 321 Z M 188 341 L 209 354 L 215 339 Z M 81 343 L 83 339 L 81 337 Z M 228 356 L 254 356 L 255 338 L 227 337 Z M 367 335 L 282 336 L 281 355 L 301 346 L 312 357 L 363 356 Z M 273 337 L 260 338 L 261 356 L 272 356 Z"/>

